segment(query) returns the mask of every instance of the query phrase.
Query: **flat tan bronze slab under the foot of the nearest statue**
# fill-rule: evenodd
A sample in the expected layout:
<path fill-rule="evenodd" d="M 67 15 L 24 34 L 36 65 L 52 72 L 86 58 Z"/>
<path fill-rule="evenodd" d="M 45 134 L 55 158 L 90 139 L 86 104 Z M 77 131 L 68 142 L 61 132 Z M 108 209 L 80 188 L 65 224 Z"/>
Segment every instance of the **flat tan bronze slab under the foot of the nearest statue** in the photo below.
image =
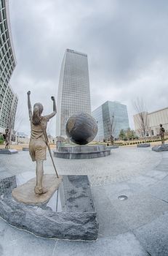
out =
<path fill-rule="evenodd" d="M 31 178 L 30 181 L 25 184 L 16 187 L 12 190 L 12 197 L 20 203 L 28 205 L 39 205 L 41 203 L 47 203 L 54 194 L 55 190 L 58 189 L 62 177 L 57 178 L 56 175 L 47 174 L 43 177 L 43 186 L 47 189 L 47 192 L 41 195 L 34 193 L 34 187 L 36 185 L 36 178 Z"/>

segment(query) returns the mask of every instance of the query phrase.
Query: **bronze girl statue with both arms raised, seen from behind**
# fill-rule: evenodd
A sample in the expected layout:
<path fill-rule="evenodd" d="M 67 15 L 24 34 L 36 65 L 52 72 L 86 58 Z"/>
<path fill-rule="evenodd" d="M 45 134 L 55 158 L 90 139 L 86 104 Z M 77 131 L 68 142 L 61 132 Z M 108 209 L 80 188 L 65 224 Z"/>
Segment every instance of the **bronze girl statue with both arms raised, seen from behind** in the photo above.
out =
<path fill-rule="evenodd" d="M 33 113 L 31 110 L 31 91 L 28 91 L 28 113 L 31 121 L 31 139 L 29 143 L 29 153 L 32 161 L 36 161 L 36 186 L 34 192 L 36 194 L 44 194 L 47 192 L 42 185 L 44 168 L 43 162 L 46 160 L 47 142 L 44 132 L 47 129 L 47 121 L 57 113 L 55 97 L 51 97 L 53 101 L 53 112 L 47 116 L 41 116 L 43 105 L 36 103 L 33 105 Z"/>

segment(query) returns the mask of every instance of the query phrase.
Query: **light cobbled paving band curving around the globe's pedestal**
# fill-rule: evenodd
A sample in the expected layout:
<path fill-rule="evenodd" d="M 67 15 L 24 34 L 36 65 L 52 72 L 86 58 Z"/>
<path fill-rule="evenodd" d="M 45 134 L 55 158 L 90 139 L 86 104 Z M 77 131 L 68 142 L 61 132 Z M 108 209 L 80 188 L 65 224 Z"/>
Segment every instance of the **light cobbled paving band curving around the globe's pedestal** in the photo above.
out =
<path fill-rule="evenodd" d="M 111 155 L 95 159 L 60 159 L 55 158 L 59 174 L 88 175 L 92 186 L 126 181 L 131 177 L 153 169 L 161 161 L 161 154 L 151 151 L 151 148 L 116 148 L 111 149 Z M 15 175 L 25 171 L 34 171 L 35 164 L 31 162 L 28 151 L 19 151 L 15 155 L 0 155 L 4 176 Z M 6 172 L 7 170 L 7 172 Z M 47 156 L 44 162 L 45 173 L 52 173 L 51 159 Z"/>

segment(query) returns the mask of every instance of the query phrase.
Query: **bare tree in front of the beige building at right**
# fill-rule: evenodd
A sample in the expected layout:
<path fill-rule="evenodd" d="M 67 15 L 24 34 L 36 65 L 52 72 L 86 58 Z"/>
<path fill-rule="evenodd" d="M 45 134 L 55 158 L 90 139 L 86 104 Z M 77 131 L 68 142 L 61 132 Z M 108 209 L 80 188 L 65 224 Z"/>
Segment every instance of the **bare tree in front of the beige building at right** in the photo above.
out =
<path fill-rule="evenodd" d="M 137 115 L 135 116 L 135 121 L 139 127 L 138 132 L 142 137 L 145 137 L 148 132 L 148 111 L 145 108 L 144 100 L 141 98 L 137 98 L 135 102 L 133 102 L 135 110 L 137 110 Z"/>

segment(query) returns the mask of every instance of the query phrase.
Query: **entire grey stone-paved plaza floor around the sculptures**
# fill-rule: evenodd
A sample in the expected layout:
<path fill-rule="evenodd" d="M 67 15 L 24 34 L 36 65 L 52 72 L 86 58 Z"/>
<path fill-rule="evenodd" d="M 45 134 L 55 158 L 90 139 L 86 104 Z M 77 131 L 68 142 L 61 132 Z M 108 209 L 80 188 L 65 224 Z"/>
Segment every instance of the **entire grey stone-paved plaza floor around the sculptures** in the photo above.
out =
<path fill-rule="evenodd" d="M 125 147 L 99 159 L 56 159 L 59 174 L 88 175 L 100 223 L 97 241 L 34 236 L 0 219 L 1 256 L 168 255 L 168 151 Z M 49 159 L 45 173 L 54 173 Z M 28 151 L 0 155 L 0 178 L 35 171 Z M 126 195 L 127 200 L 119 200 Z"/>

